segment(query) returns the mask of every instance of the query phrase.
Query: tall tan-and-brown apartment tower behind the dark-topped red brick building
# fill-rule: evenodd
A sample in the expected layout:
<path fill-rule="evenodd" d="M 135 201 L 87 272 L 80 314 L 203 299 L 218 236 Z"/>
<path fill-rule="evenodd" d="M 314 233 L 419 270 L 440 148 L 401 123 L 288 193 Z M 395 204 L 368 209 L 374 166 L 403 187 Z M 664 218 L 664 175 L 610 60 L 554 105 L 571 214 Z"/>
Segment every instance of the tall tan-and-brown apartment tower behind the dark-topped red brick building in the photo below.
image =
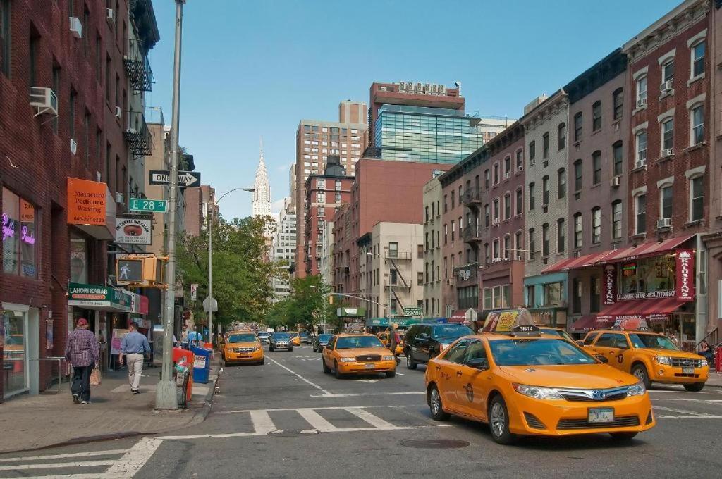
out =
<path fill-rule="evenodd" d="M 305 251 L 305 183 L 309 175 L 326 168 L 329 155 L 338 155 L 347 175 L 355 175 L 356 162 L 367 143 L 367 107 L 364 102 L 344 101 L 339 105 L 339 121 L 301 120 L 296 131 L 296 162 L 291 173 L 293 201 L 298 227 L 296 264 L 303 265 Z M 360 115 L 360 112 L 364 112 Z M 347 120 L 363 120 L 350 123 Z M 296 268 L 296 276 L 305 276 L 305 268 Z"/>

